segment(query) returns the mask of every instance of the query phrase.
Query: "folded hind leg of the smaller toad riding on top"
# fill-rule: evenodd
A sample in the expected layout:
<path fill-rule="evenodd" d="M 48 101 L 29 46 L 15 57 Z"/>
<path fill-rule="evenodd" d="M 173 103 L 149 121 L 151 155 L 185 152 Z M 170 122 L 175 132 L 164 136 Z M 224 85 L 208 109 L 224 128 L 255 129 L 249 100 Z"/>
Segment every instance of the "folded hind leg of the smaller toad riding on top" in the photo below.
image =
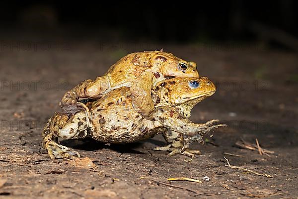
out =
<path fill-rule="evenodd" d="M 78 99 L 97 99 L 110 90 L 110 81 L 107 76 L 98 77 L 95 80 L 85 80 L 67 92 L 59 105 L 67 114 L 74 114 L 80 110 L 88 112 L 87 106 L 78 102 Z"/>

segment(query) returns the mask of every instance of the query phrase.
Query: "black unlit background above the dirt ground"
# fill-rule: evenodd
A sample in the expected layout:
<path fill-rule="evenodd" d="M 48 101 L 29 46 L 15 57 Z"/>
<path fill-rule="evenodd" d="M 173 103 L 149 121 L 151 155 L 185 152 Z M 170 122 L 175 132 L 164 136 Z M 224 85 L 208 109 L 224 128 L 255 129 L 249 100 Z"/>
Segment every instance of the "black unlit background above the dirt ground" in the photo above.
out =
<path fill-rule="evenodd" d="M 10 1 L 0 6 L 0 33 L 179 43 L 261 40 L 297 50 L 297 8 L 296 0 Z"/>

